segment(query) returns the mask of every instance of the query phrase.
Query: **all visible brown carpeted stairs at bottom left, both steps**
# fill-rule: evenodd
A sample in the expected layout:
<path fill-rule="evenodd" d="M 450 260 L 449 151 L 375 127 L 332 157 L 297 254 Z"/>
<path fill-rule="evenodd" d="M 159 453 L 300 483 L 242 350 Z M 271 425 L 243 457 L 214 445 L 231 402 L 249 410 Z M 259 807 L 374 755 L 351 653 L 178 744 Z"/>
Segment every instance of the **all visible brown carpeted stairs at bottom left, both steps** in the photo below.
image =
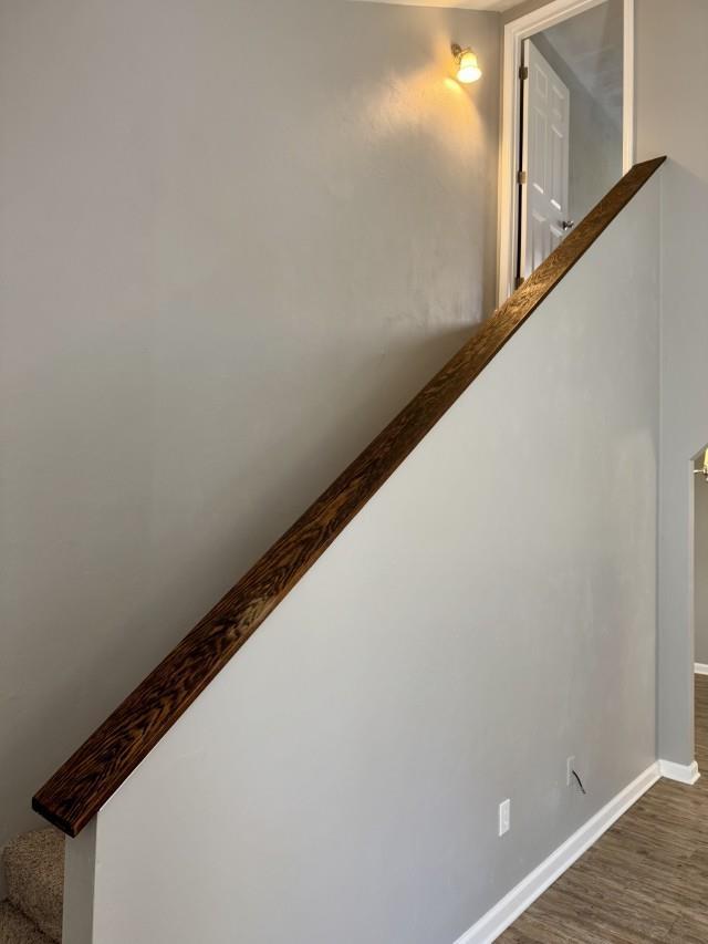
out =
<path fill-rule="evenodd" d="M 0 944 L 62 940 L 64 837 L 39 829 L 13 839 L 2 853 L 8 898 L 0 902 Z"/>

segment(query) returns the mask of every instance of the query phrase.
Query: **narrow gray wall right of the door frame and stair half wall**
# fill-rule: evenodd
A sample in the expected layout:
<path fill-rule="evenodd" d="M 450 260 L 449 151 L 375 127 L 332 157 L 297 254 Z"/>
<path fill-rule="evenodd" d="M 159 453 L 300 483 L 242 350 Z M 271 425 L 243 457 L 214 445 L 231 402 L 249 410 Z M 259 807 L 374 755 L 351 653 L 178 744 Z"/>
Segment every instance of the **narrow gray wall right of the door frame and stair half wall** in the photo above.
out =
<path fill-rule="evenodd" d="M 708 442 L 708 4 L 637 0 L 638 157 L 667 154 L 662 249 L 659 753 L 689 764 L 693 733 L 691 458 Z"/>

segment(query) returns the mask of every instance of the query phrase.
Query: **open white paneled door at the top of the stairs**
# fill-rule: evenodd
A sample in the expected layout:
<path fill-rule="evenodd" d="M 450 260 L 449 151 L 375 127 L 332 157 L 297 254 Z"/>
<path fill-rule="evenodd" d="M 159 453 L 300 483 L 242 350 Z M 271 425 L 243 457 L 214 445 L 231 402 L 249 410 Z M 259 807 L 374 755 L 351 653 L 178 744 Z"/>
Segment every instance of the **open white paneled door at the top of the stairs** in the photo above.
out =
<path fill-rule="evenodd" d="M 528 279 L 573 224 L 569 216 L 570 93 L 532 40 L 524 40 L 519 274 Z"/>

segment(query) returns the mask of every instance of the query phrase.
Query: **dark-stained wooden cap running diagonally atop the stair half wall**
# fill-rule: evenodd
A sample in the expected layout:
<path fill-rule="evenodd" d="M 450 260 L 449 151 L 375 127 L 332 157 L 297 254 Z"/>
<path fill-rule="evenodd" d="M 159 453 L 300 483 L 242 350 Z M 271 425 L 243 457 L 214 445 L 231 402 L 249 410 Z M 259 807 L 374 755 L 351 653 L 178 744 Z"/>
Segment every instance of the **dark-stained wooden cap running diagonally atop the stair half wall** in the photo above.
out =
<path fill-rule="evenodd" d="M 76 836 L 665 158 L 637 164 L 32 800 Z"/>

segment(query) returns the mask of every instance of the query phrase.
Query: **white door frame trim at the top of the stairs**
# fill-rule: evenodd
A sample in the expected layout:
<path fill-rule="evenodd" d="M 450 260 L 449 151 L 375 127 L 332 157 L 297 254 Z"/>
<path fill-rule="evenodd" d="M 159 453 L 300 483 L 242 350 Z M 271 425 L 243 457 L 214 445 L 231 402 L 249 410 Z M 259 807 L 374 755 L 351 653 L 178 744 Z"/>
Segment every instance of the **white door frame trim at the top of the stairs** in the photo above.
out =
<path fill-rule="evenodd" d="M 534 33 L 570 20 L 606 3 L 607 0 L 551 0 L 538 10 L 504 25 L 501 77 L 501 142 L 499 156 L 499 267 L 498 304 L 513 291 L 516 247 L 519 229 L 519 167 L 521 49 Z M 627 173 L 634 164 L 634 0 L 624 2 L 623 28 L 623 114 L 622 166 Z"/>

